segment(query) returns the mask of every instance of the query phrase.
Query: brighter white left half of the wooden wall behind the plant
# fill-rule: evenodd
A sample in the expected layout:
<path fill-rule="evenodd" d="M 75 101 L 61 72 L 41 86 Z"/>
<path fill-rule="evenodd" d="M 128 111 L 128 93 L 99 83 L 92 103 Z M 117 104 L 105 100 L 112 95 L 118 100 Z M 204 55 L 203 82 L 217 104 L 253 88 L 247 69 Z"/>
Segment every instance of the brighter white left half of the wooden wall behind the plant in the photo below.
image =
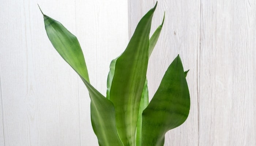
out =
<path fill-rule="evenodd" d="M 78 37 L 91 82 L 103 95 L 109 63 L 128 43 L 124 2 L 1 1 L 5 145 L 96 146 L 88 93 L 47 38 L 37 3 Z"/>

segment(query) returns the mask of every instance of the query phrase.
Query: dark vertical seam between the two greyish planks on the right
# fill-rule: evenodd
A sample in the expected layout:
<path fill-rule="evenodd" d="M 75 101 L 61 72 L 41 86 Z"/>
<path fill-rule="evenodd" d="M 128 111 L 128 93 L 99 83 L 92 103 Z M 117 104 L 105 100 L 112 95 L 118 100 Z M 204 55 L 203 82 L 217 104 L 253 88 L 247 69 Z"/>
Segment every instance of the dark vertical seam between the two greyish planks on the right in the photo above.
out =
<path fill-rule="evenodd" d="M 198 43 L 199 43 L 199 49 L 197 49 L 197 65 L 196 65 L 196 69 L 197 69 L 197 134 L 198 134 L 198 140 L 197 140 L 197 145 L 199 146 L 199 140 L 200 140 L 200 110 L 199 110 L 199 88 L 200 88 L 200 49 L 201 49 L 201 15 L 202 15 L 202 12 L 201 12 L 201 3 L 202 3 L 202 0 L 199 1 L 199 40 L 198 40 Z"/>

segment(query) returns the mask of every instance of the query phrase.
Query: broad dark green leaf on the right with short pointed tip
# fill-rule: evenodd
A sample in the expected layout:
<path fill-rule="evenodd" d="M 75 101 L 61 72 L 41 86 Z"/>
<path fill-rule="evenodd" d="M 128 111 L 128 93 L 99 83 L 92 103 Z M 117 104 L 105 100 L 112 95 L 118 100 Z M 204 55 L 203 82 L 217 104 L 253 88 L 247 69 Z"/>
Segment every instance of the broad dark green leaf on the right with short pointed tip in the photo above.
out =
<path fill-rule="evenodd" d="M 165 133 L 188 117 L 190 98 L 180 56 L 167 69 L 157 92 L 142 114 L 142 145 L 163 146 Z"/>

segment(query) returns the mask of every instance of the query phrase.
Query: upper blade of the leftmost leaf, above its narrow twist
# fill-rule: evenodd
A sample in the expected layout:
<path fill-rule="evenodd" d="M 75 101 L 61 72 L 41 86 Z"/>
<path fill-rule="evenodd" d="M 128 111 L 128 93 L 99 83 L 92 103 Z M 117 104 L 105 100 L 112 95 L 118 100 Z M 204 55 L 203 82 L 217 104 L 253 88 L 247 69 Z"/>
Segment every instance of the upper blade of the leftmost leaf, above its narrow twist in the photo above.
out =
<path fill-rule="evenodd" d="M 89 81 L 84 55 L 75 35 L 71 34 L 60 22 L 46 15 L 44 15 L 44 22 L 46 33 L 53 47 L 76 72 Z"/>

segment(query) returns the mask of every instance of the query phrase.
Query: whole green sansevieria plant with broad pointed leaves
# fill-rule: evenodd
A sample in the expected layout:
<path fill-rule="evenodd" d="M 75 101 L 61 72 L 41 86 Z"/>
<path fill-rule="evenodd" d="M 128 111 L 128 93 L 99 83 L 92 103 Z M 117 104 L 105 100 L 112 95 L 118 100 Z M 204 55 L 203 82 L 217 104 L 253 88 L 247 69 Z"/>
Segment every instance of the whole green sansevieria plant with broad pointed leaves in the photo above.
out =
<path fill-rule="evenodd" d="M 180 56 L 170 64 L 148 101 L 147 65 L 162 24 L 149 39 L 157 4 L 138 23 L 125 51 L 110 64 L 106 97 L 89 81 L 78 39 L 60 22 L 44 15 L 53 47 L 78 73 L 91 99 L 91 124 L 100 146 L 163 146 L 165 133 L 188 117 L 190 98 Z"/>

